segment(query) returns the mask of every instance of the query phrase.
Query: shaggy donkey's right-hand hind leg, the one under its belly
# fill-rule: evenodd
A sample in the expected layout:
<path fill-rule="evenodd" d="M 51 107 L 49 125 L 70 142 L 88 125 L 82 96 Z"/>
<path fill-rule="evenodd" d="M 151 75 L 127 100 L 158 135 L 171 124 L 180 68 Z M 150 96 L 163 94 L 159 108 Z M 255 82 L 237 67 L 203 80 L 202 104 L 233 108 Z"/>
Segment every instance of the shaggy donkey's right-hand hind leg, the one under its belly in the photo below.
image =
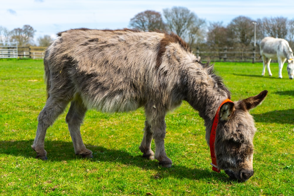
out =
<path fill-rule="evenodd" d="M 71 101 L 69 112 L 66 115 L 66 123 L 68 123 L 76 155 L 81 155 L 83 158 L 93 158 L 92 151 L 88 150 L 84 145 L 80 132 L 80 126 L 86 111 L 87 108 L 84 106 L 81 97 L 77 95 Z"/>

